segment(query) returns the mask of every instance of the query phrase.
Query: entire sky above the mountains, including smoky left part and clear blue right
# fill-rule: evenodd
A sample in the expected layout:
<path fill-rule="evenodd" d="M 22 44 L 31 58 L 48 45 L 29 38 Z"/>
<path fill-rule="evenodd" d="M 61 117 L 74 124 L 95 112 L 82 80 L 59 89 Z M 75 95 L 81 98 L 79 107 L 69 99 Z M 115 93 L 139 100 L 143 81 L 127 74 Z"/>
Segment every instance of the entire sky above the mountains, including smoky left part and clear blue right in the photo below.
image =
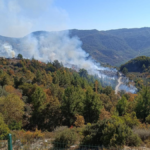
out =
<path fill-rule="evenodd" d="M 0 0 L 0 35 L 150 27 L 150 0 Z"/>

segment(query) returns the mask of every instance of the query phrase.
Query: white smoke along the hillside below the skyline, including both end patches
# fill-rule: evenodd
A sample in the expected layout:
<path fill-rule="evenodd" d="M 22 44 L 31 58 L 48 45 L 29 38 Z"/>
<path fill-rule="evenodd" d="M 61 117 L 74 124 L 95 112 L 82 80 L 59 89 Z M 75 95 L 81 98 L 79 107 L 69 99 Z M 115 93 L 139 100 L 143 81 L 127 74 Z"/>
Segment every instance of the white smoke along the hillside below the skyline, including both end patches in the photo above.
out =
<path fill-rule="evenodd" d="M 37 33 L 36 33 L 37 34 Z M 84 68 L 91 75 L 97 75 L 102 82 L 112 85 L 118 79 L 117 70 L 100 66 L 89 57 L 82 48 L 82 42 L 77 37 L 69 37 L 69 32 L 48 32 L 35 36 L 35 33 L 20 40 L 18 48 L 12 49 L 8 44 L 3 44 L 1 55 L 11 57 L 12 53 L 16 56 L 21 53 L 24 58 L 34 57 L 42 62 L 53 62 L 58 60 L 65 67 L 76 65 L 77 68 Z M 109 75 L 108 75 L 109 74 Z M 122 77 L 122 83 L 118 88 L 126 92 L 135 93 L 136 88 L 127 85 L 129 80 Z M 108 84 L 109 83 L 109 84 Z"/>

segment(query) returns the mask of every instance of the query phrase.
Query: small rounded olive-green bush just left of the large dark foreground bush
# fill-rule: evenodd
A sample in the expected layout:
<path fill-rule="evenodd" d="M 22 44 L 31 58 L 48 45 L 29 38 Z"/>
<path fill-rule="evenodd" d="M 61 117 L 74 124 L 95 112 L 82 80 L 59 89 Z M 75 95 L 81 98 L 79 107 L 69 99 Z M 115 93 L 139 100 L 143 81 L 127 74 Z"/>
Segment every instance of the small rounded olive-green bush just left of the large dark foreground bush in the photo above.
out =
<path fill-rule="evenodd" d="M 68 148 L 75 144 L 76 140 L 77 134 L 72 129 L 67 129 L 56 136 L 53 145 L 57 148 Z"/>

